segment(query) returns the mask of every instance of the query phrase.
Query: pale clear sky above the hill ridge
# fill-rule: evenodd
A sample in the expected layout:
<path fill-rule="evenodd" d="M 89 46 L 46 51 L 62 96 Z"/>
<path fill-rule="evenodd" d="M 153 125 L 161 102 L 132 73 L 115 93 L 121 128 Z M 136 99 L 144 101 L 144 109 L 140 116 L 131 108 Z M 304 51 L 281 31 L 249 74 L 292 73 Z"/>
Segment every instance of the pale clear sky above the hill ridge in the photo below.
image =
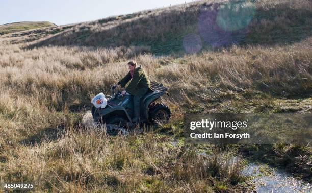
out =
<path fill-rule="evenodd" d="M 0 24 L 50 21 L 56 25 L 167 7 L 192 0 L 0 0 Z"/>

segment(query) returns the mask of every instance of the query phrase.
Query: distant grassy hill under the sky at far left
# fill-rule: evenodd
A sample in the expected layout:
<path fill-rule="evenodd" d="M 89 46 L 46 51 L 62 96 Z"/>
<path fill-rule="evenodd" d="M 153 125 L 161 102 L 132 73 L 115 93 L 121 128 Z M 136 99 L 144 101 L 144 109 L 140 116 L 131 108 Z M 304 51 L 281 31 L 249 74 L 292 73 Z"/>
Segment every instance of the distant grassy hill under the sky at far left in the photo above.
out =
<path fill-rule="evenodd" d="M 0 35 L 7 33 L 20 32 L 24 30 L 44 28 L 44 27 L 53 27 L 56 26 L 54 23 L 48 21 L 24 21 L 24 22 L 15 22 L 15 23 L 6 23 L 0 25 Z"/>

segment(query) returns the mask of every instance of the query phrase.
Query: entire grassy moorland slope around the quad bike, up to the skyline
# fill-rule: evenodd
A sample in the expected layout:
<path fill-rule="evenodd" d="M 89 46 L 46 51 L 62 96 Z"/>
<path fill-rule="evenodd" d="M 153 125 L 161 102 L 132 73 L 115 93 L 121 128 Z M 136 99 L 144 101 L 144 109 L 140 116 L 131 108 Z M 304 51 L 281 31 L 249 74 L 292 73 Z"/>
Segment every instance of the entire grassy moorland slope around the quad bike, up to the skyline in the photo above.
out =
<path fill-rule="evenodd" d="M 37 191 L 250 192 L 247 158 L 230 161 L 248 152 L 310 180 L 310 146 L 182 136 L 185 112 L 311 113 L 311 14 L 304 0 L 200 1 L 0 36 L 1 179 Z M 170 123 L 128 136 L 86 128 L 90 99 L 132 59 L 169 87 Z"/>

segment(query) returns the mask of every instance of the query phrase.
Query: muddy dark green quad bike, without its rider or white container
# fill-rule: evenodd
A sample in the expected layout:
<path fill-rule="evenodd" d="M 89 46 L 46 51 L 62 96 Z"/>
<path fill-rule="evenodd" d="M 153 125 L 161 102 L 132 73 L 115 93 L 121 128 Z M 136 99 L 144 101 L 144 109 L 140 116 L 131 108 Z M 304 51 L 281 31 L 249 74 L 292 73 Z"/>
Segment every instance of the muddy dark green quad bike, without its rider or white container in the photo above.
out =
<path fill-rule="evenodd" d="M 105 96 L 107 105 L 105 108 L 92 107 L 91 113 L 95 122 L 106 123 L 106 125 L 118 125 L 119 127 L 134 126 L 133 118 L 133 96 L 130 94 L 122 95 L 120 92 L 115 94 L 112 87 L 112 95 Z M 168 122 L 171 111 L 165 104 L 155 103 L 160 96 L 167 94 L 168 88 L 163 84 L 151 82 L 151 89 L 143 96 L 140 105 L 140 123 L 160 123 Z"/>

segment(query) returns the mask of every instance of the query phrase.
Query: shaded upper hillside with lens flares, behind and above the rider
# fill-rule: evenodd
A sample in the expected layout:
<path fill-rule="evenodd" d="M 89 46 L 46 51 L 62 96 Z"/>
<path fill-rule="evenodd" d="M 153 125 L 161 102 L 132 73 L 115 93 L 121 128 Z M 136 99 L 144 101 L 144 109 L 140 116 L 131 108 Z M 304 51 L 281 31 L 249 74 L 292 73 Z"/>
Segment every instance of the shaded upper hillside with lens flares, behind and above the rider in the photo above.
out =
<path fill-rule="evenodd" d="M 311 36 L 310 1 L 198 2 L 165 9 L 60 26 L 40 34 L 29 47 L 85 45 L 150 46 L 153 54 L 231 44 L 285 44 Z M 38 40 L 38 38 L 33 39 Z"/>

